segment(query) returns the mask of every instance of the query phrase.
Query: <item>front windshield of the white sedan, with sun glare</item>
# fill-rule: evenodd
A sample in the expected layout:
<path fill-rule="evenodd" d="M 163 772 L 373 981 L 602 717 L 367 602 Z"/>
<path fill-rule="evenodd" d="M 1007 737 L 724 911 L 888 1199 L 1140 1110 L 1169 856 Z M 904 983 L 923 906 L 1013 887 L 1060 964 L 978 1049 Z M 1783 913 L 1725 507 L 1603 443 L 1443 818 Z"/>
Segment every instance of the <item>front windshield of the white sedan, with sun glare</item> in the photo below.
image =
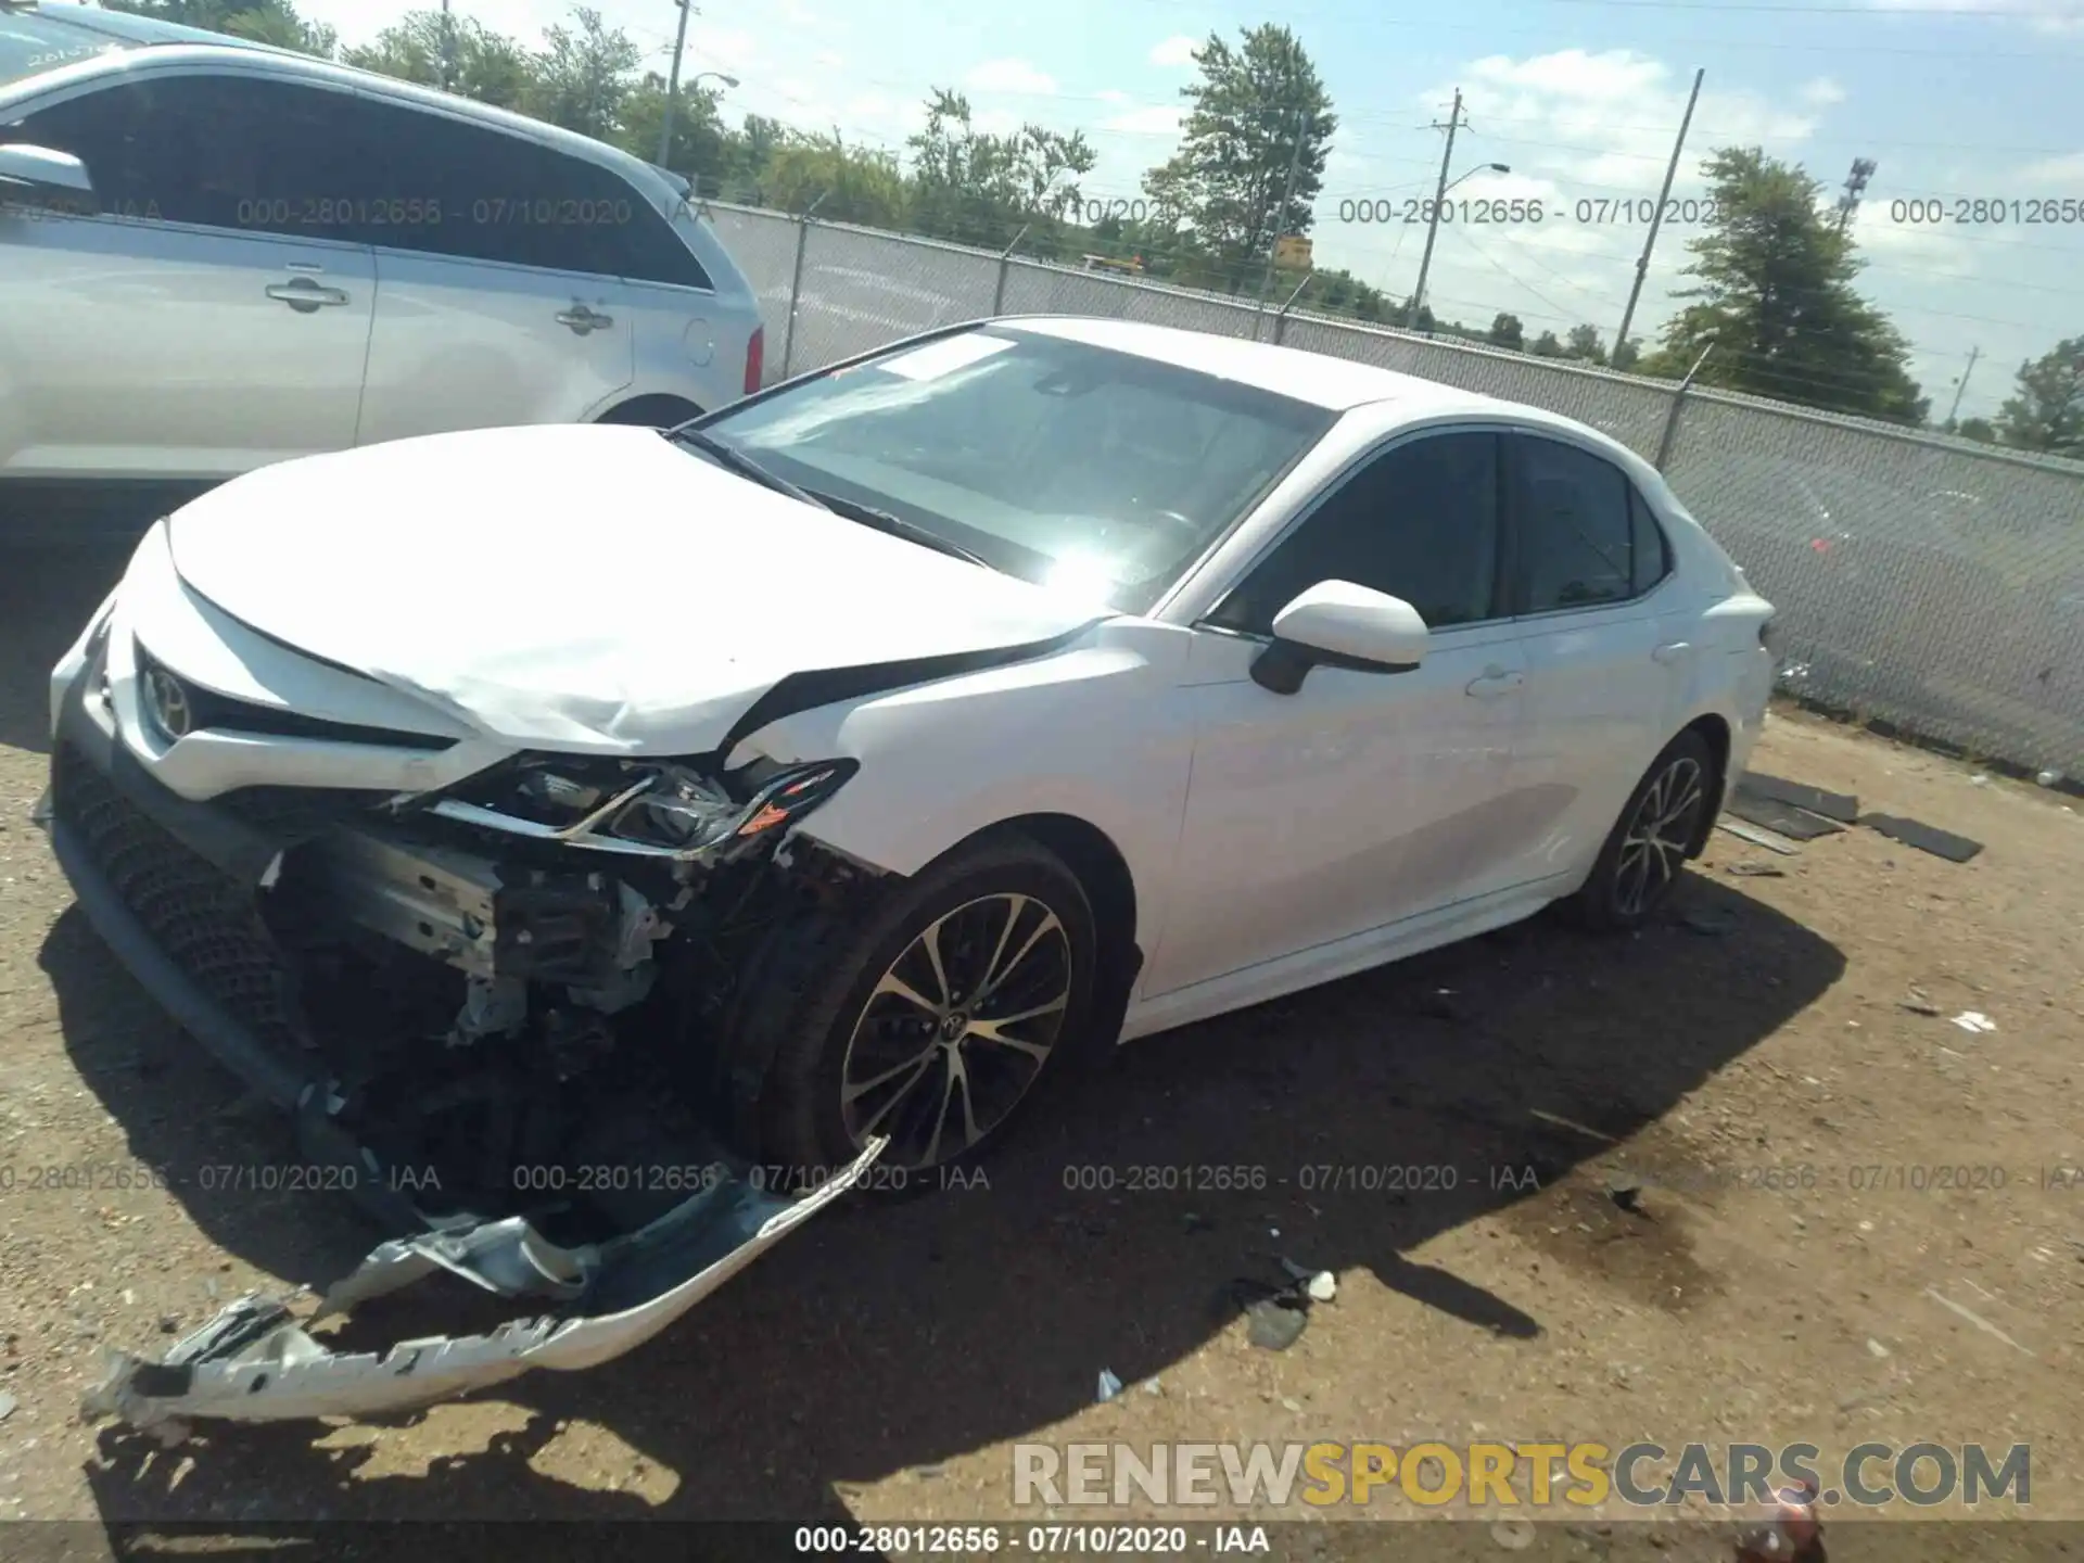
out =
<path fill-rule="evenodd" d="M 813 494 L 1142 613 L 1334 413 L 1040 331 L 942 338 L 704 421 Z"/>

